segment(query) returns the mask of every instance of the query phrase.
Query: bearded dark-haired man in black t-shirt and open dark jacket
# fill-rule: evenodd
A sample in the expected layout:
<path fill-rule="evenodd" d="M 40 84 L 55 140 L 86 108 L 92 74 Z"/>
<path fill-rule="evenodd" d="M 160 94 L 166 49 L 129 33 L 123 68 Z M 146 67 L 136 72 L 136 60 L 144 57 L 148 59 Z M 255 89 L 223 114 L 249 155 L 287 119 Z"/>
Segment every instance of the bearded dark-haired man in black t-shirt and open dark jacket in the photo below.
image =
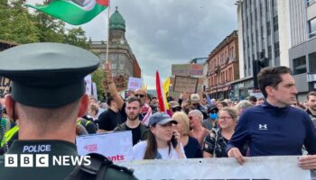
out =
<path fill-rule="evenodd" d="M 134 96 L 127 98 L 125 112 L 127 120 L 118 125 L 114 131 L 132 130 L 134 146 L 137 142 L 147 139 L 149 132 L 149 128 L 139 120 L 141 100 Z"/>

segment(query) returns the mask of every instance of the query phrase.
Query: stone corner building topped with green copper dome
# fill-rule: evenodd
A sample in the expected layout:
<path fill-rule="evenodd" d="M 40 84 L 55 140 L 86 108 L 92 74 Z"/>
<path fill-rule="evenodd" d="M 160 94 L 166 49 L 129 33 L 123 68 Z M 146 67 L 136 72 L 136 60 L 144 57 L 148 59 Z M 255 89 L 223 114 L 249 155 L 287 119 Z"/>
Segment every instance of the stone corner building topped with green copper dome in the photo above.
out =
<path fill-rule="evenodd" d="M 106 59 L 112 65 L 113 76 L 142 76 L 141 68 L 135 55 L 125 39 L 125 20 L 118 12 L 111 15 L 109 20 L 109 46 L 107 55 L 107 41 L 88 41 L 90 50 L 98 54 L 102 62 Z M 108 56 L 108 57 L 107 57 Z"/>

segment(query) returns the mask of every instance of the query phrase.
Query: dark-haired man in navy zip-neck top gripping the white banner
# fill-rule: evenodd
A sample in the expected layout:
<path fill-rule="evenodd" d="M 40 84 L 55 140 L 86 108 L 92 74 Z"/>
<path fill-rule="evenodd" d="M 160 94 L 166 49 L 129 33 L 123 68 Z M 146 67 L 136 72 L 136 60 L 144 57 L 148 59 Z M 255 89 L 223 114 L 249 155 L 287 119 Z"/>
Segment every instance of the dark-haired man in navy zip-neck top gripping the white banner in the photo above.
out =
<path fill-rule="evenodd" d="M 228 142 L 228 157 L 245 162 L 241 154 L 246 141 L 250 157 L 302 155 L 299 160 L 305 169 L 316 168 L 316 130 L 309 115 L 291 105 L 296 102 L 297 89 L 288 67 L 265 67 L 258 74 L 258 85 L 265 103 L 249 108 L 237 123 Z"/>

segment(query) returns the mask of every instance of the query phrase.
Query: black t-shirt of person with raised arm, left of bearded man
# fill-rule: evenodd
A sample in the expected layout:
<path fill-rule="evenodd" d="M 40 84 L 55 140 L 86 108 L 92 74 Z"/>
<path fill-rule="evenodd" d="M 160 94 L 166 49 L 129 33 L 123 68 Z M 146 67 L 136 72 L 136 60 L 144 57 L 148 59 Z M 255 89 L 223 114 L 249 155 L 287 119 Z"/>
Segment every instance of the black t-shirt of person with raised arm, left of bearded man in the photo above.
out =
<path fill-rule="evenodd" d="M 98 124 L 98 129 L 101 130 L 114 130 L 118 124 L 121 124 L 126 119 L 123 119 L 120 112 L 114 112 L 111 109 L 102 112 L 98 116 L 98 120 L 95 123 Z"/>

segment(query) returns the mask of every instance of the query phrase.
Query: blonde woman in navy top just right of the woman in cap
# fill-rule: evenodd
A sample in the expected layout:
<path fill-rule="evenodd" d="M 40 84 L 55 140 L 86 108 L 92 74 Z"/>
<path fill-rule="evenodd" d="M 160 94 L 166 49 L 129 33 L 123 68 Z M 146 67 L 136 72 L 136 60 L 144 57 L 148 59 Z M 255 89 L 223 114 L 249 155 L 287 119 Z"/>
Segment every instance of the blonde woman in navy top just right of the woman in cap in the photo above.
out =
<path fill-rule="evenodd" d="M 203 157 L 199 141 L 189 136 L 190 125 L 188 115 L 184 112 L 175 112 L 172 119 L 178 122 L 175 125 L 175 129 L 180 133 L 179 140 L 184 147 L 186 157 Z"/>

